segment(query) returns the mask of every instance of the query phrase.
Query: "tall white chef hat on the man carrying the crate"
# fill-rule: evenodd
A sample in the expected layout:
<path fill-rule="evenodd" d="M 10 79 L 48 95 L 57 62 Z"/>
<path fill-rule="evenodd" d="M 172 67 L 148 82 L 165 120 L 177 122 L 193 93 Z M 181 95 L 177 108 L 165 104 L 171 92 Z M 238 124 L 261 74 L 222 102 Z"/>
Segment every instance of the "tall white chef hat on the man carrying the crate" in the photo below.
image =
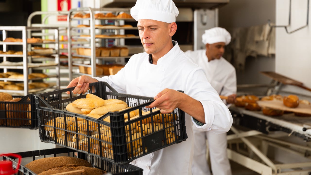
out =
<path fill-rule="evenodd" d="M 131 8 L 131 16 L 139 19 L 152 19 L 172 23 L 176 21 L 178 9 L 172 0 L 137 0 Z"/>

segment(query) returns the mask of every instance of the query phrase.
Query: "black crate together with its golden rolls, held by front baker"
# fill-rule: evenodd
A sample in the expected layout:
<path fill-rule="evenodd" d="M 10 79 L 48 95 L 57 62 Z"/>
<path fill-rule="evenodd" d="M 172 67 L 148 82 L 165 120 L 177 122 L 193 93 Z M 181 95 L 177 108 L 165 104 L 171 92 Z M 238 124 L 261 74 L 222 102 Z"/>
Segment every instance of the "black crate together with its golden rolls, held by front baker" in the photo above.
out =
<path fill-rule="evenodd" d="M 106 92 L 106 88 L 112 87 L 105 82 L 91 83 L 90 87 L 94 94 L 71 97 L 69 102 L 62 101 L 62 104 L 52 102 L 53 108 L 49 110 L 39 109 L 42 141 L 74 148 L 110 161 L 128 163 L 187 138 L 183 111 L 177 108 L 170 114 L 161 114 L 159 109 L 148 111 L 145 106 L 152 102 L 152 97 L 118 94 L 115 90 Z M 40 100 L 36 103 L 42 106 L 46 103 L 42 97 L 72 89 L 35 95 Z M 97 103 L 99 99 L 103 100 L 101 97 L 105 98 L 104 104 Z M 76 100 L 83 106 L 74 105 Z M 59 112 L 51 115 L 51 110 Z M 59 123 L 55 122 L 55 116 L 65 118 L 56 120 L 67 124 L 55 126 Z"/>

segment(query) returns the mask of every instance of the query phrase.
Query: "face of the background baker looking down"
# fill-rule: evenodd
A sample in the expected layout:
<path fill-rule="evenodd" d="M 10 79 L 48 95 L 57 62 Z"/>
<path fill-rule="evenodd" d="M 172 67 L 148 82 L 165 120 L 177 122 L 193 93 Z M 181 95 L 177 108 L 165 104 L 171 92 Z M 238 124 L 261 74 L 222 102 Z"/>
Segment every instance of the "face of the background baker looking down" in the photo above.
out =
<path fill-rule="evenodd" d="M 220 59 L 225 52 L 225 43 L 219 42 L 206 45 L 206 55 L 209 61 L 213 59 Z"/>

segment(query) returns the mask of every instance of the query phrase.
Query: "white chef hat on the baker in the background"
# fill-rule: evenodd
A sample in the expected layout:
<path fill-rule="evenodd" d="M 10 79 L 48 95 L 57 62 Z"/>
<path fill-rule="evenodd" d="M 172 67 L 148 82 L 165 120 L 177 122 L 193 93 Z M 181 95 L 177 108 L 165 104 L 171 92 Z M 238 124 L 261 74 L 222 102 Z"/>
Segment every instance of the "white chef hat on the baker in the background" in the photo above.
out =
<path fill-rule="evenodd" d="M 205 30 L 205 33 L 202 35 L 203 44 L 214 44 L 224 42 L 225 45 L 228 45 L 231 41 L 230 33 L 221 27 L 214 27 L 208 30 Z"/>

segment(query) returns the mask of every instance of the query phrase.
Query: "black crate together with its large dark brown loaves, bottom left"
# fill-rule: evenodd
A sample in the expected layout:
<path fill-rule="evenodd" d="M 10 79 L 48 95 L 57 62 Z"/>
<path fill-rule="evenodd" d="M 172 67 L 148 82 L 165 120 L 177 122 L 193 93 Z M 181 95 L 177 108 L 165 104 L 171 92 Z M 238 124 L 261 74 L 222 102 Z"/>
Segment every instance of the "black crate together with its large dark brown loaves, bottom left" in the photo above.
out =
<path fill-rule="evenodd" d="M 15 153 L 21 156 L 21 165 L 17 174 L 92 174 L 102 175 L 142 175 L 142 169 L 131 164 L 118 165 L 102 158 L 76 152 L 67 148 L 43 149 Z M 16 169 L 18 159 L 6 155 L 0 156 L 12 163 Z"/>

